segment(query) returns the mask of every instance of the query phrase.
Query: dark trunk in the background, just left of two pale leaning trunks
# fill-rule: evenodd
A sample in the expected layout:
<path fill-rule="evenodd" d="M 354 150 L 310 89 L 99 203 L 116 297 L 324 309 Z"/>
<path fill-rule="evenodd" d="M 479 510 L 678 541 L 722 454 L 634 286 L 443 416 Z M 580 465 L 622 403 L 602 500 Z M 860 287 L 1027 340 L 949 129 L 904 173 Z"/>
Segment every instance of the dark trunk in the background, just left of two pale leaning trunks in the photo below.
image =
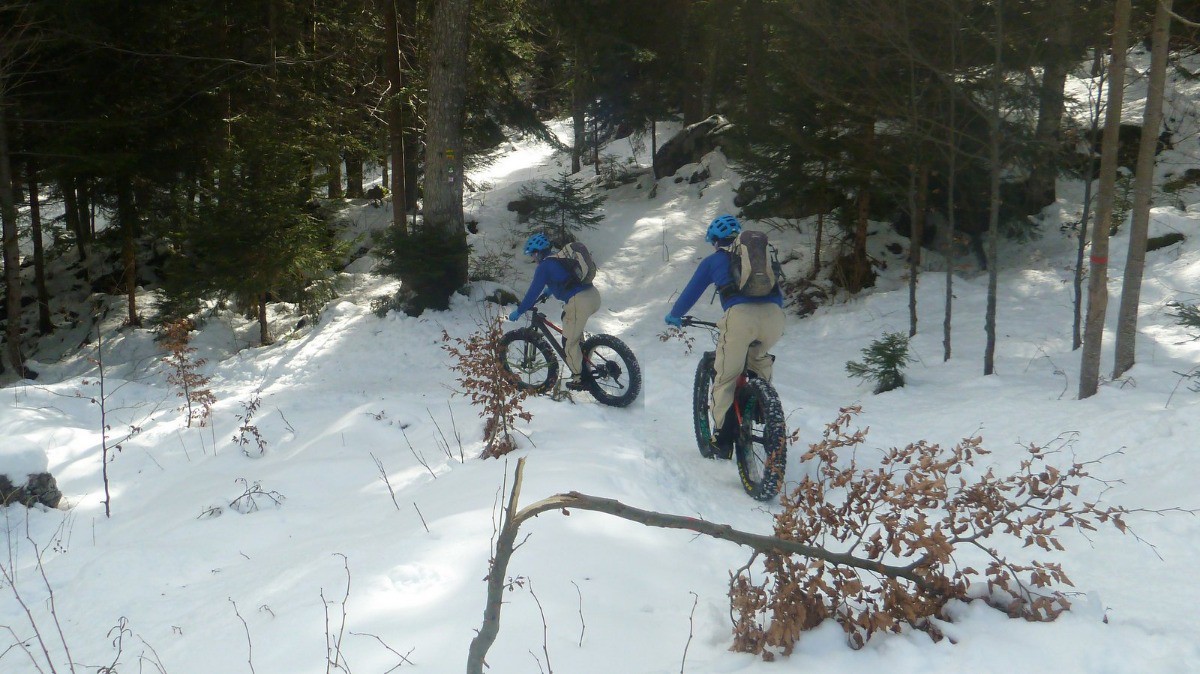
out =
<path fill-rule="evenodd" d="M 1038 91 L 1038 125 L 1033 133 L 1036 162 L 1026 182 L 1025 200 L 1043 209 L 1055 201 L 1058 177 L 1063 91 L 1070 68 L 1072 20 L 1069 0 L 1054 0 L 1050 7 L 1050 48 L 1042 61 Z"/>

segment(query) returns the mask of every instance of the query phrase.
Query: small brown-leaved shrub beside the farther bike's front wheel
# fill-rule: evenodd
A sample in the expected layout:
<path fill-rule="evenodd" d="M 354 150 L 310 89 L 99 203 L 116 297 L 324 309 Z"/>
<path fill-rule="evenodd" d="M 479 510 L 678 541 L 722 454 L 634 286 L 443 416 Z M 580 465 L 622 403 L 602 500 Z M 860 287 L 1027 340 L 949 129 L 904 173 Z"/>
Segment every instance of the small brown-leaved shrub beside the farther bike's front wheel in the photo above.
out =
<path fill-rule="evenodd" d="M 484 420 L 484 458 L 515 450 L 516 421 L 533 420 L 533 415 L 521 407 L 528 391 L 520 389 L 512 373 L 504 368 L 502 337 L 504 327 L 499 317 L 490 318 L 466 339 L 442 332 L 442 349 L 454 360 L 450 369 L 458 373 L 460 393 L 479 408 Z"/>

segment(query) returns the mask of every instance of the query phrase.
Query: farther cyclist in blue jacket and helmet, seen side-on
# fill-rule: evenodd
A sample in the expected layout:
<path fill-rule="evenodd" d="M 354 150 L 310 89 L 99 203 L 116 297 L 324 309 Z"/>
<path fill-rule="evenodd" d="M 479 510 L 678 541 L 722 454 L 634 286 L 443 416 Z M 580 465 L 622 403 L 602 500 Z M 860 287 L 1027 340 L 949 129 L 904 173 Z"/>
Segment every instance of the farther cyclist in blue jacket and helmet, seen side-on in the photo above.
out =
<path fill-rule="evenodd" d="M 582 391 L 584 386 L 580 373 L 583 371 L 583 350 L 580 349 L 580 342 L 583 339 L 583 329 L 587 326 L 588 318 L 600 311 L 600 291 L 590 283 L 581 283 L 568 267 L 568 260 L 551 257 L 550 239 L 545 234 L 529 236 L 526 241 L 524 254 L 538 263 L 538 269 L 533 272 L 529 290 L 526 291 L 526 296 L 517 305 L 517 308 L 509 314 L 509 320 L 517 320 L 521 314 L 533 308 L 534 303 L 542 296 L 542 290 L 547 288 L 550 295 L 565 302 L 563 305 L 563 350 L 566 353 L 566 367 L 571 371 L 566 387 L 572 391 Z"/>

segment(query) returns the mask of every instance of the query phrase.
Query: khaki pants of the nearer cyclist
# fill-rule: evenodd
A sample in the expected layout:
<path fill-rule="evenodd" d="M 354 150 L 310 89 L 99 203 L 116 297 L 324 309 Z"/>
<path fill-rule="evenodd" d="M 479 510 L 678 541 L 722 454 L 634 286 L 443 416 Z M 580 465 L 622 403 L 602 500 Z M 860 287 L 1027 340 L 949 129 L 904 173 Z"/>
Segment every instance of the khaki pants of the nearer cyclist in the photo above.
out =
<path fill-rule="evenodd" d="M 749 366 L 770 381 L 775 360 L 767 351 L 784 336 L 784 309 L 774 302 L 733 305 L 716 323 L 716 378 L 713 380 L 713 431 L 721 428 L 733 405 L 738 375 Z M 750 345 L 751 342 L 758 342 Z"/>

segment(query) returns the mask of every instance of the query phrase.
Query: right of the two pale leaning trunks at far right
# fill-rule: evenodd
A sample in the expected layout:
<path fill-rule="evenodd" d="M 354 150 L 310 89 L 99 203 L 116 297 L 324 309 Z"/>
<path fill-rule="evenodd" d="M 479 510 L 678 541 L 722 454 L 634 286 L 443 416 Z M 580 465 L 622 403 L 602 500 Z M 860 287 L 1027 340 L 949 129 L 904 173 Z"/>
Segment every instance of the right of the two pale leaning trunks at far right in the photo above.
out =
<path fill-rule="evenodd" d="M 1150 231 L 1150 198 L 1154 188 L 1154 150 L 1163 127 L 1163 89 L 1166 83 L 1166 47 L 1171 36 L 1172 0 L 1158 0 L 1154 31 L 1151 38 L 1150 89 L 1142 115 L 1141 143 L 1138 145 L 1138 170 L 1133 181 L 1133 219 L 1129 225 L 1129 255 L 1126 258 L 1121 306 L 1117 308 L 1117 343 L 1112 378 L 1133 367 L 1138 342 L 1138 307 L 1141 303 L 1141 277 L 1146 271 L 1146 236 Z"/>

